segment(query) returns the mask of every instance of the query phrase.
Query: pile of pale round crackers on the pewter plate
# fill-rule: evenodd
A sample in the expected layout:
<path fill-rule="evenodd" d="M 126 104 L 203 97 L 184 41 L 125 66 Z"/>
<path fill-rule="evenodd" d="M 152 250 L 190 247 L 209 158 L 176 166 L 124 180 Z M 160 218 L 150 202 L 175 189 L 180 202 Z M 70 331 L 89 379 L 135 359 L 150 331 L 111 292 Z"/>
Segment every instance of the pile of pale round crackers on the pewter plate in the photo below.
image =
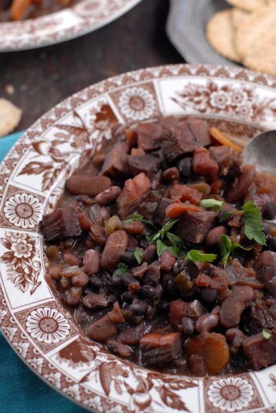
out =
<path fill-rule="evenodd" d="M 206 26 L 210 45 L 222 56 L 276 76 L 276 0 L 227 0 Z"/>

